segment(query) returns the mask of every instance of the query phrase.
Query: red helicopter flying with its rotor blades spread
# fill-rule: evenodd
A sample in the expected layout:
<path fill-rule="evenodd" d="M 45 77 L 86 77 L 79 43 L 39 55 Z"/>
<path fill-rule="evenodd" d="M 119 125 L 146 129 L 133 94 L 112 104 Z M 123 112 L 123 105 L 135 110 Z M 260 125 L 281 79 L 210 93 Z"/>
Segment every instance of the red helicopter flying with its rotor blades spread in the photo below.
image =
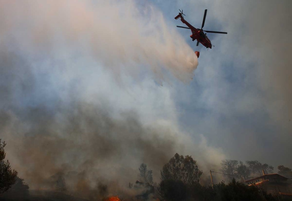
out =
<path fill-rule="evenodd" d="M 180 9 L 179 9 L 180 11 Z M 197 40 L 197 46 L 199 45 L 199 43 L 201 43 L 202 45 L 204 45 L 206 48 L 212 48 L 212 44 L 210 39 L 208 39 L 206 33 L 216 33 L 216 34 L 227 34 L 227 32 L 216 32 L 216 31 L 205 31 L 203 30 L 204 24 L 205 24 L 205 19 L 206 19 L 206 15 L 207 15 L 207 9 L 205 10 L 204 13 L 204 18 L 203 18 L 203 23 L 202 23 L 202 27 L 201 29 L 197 29 L 195 27 L 193 27 L 192 25 L 190 25 L 189 22 L 187 22 L 184 18 L 183 18 L 183 10 L 180 11 L 180 13 L 178 13 L 178 15 L 174 18 L 174 19 L 180 19 L 184 24 L 186 24 L 188 27 L 181 27 L 181 26 L 177 26 L 180 28 L 185 28 L 185 29 L 190 29 L 192 31 L 192 35 L 190 35 L 190 37 L 194 40 Z"/>

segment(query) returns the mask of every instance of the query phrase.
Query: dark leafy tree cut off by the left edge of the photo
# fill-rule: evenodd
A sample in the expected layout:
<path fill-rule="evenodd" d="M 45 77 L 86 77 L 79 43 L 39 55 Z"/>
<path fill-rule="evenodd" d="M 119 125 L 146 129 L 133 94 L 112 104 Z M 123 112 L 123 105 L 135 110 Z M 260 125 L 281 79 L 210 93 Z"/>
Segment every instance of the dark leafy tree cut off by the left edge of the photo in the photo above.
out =
<path fill-rule="evenodd" d="M 7 191 L 15 183 L 18 174 L 15 169 L 11 170 L 8 160 L 4 161 L 5 146 L 6 143 L 0 139 L 0 193 Z"/>

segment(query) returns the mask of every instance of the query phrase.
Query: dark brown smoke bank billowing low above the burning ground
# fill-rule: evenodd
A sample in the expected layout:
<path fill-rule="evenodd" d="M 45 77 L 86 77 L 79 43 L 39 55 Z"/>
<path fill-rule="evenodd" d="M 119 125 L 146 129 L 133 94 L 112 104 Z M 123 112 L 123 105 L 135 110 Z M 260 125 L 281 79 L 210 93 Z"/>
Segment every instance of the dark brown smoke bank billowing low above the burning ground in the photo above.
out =
<path fill-rule="evenodd" d="M 133 112 L 114 118 L 106 103 L 60 102 L 57 112 L 51 109 L 39 105 L 18 117 L 11 111 L 1 113 L 7 158 L 31 189 L 54 189 L 50 177 L 63 173 L 67 190 L 79 195 L 98 195 L 100 184 L 113 195 L 131 195 L 126 187 L 138 178 L 141 162 L 153 169 L 159 182 L 160 169 L 176 152 L 194 153 L 204 170 L 224 158 L 204 138 L 194 143 L 170 123 L 146 126 Z"/>

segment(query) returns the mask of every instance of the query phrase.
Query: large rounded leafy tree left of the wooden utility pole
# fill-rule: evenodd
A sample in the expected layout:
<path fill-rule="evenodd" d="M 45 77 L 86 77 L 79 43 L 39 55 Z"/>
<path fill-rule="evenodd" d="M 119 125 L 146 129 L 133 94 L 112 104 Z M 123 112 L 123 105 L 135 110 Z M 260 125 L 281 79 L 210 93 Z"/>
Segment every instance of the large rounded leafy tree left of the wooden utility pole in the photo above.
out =
<path fill-rule="evenodd" d="M 176 153 L 160 171 L 161 180 L 180 180 L 186 184 L 198 183 L 203 172 L 199 170 L 196 162 L 192 156 L 183 157 Z"/>

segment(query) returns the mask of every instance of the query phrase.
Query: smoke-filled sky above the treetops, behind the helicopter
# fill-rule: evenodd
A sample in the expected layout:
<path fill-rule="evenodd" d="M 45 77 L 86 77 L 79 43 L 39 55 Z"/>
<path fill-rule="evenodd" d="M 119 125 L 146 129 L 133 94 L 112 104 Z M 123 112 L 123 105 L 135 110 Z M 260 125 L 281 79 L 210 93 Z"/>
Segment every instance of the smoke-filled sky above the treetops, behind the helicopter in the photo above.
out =
<path fill-rule="evenodd" d="M 63 172 L 113 192 L 142 162 L 159 182 L 176 152 L 206 174 L 223 159 L 291 168 L 291 4 L 0 1 L 7 159 L 32 189 Z M 197 47 L 178 9 L 228 34 Z"/>

